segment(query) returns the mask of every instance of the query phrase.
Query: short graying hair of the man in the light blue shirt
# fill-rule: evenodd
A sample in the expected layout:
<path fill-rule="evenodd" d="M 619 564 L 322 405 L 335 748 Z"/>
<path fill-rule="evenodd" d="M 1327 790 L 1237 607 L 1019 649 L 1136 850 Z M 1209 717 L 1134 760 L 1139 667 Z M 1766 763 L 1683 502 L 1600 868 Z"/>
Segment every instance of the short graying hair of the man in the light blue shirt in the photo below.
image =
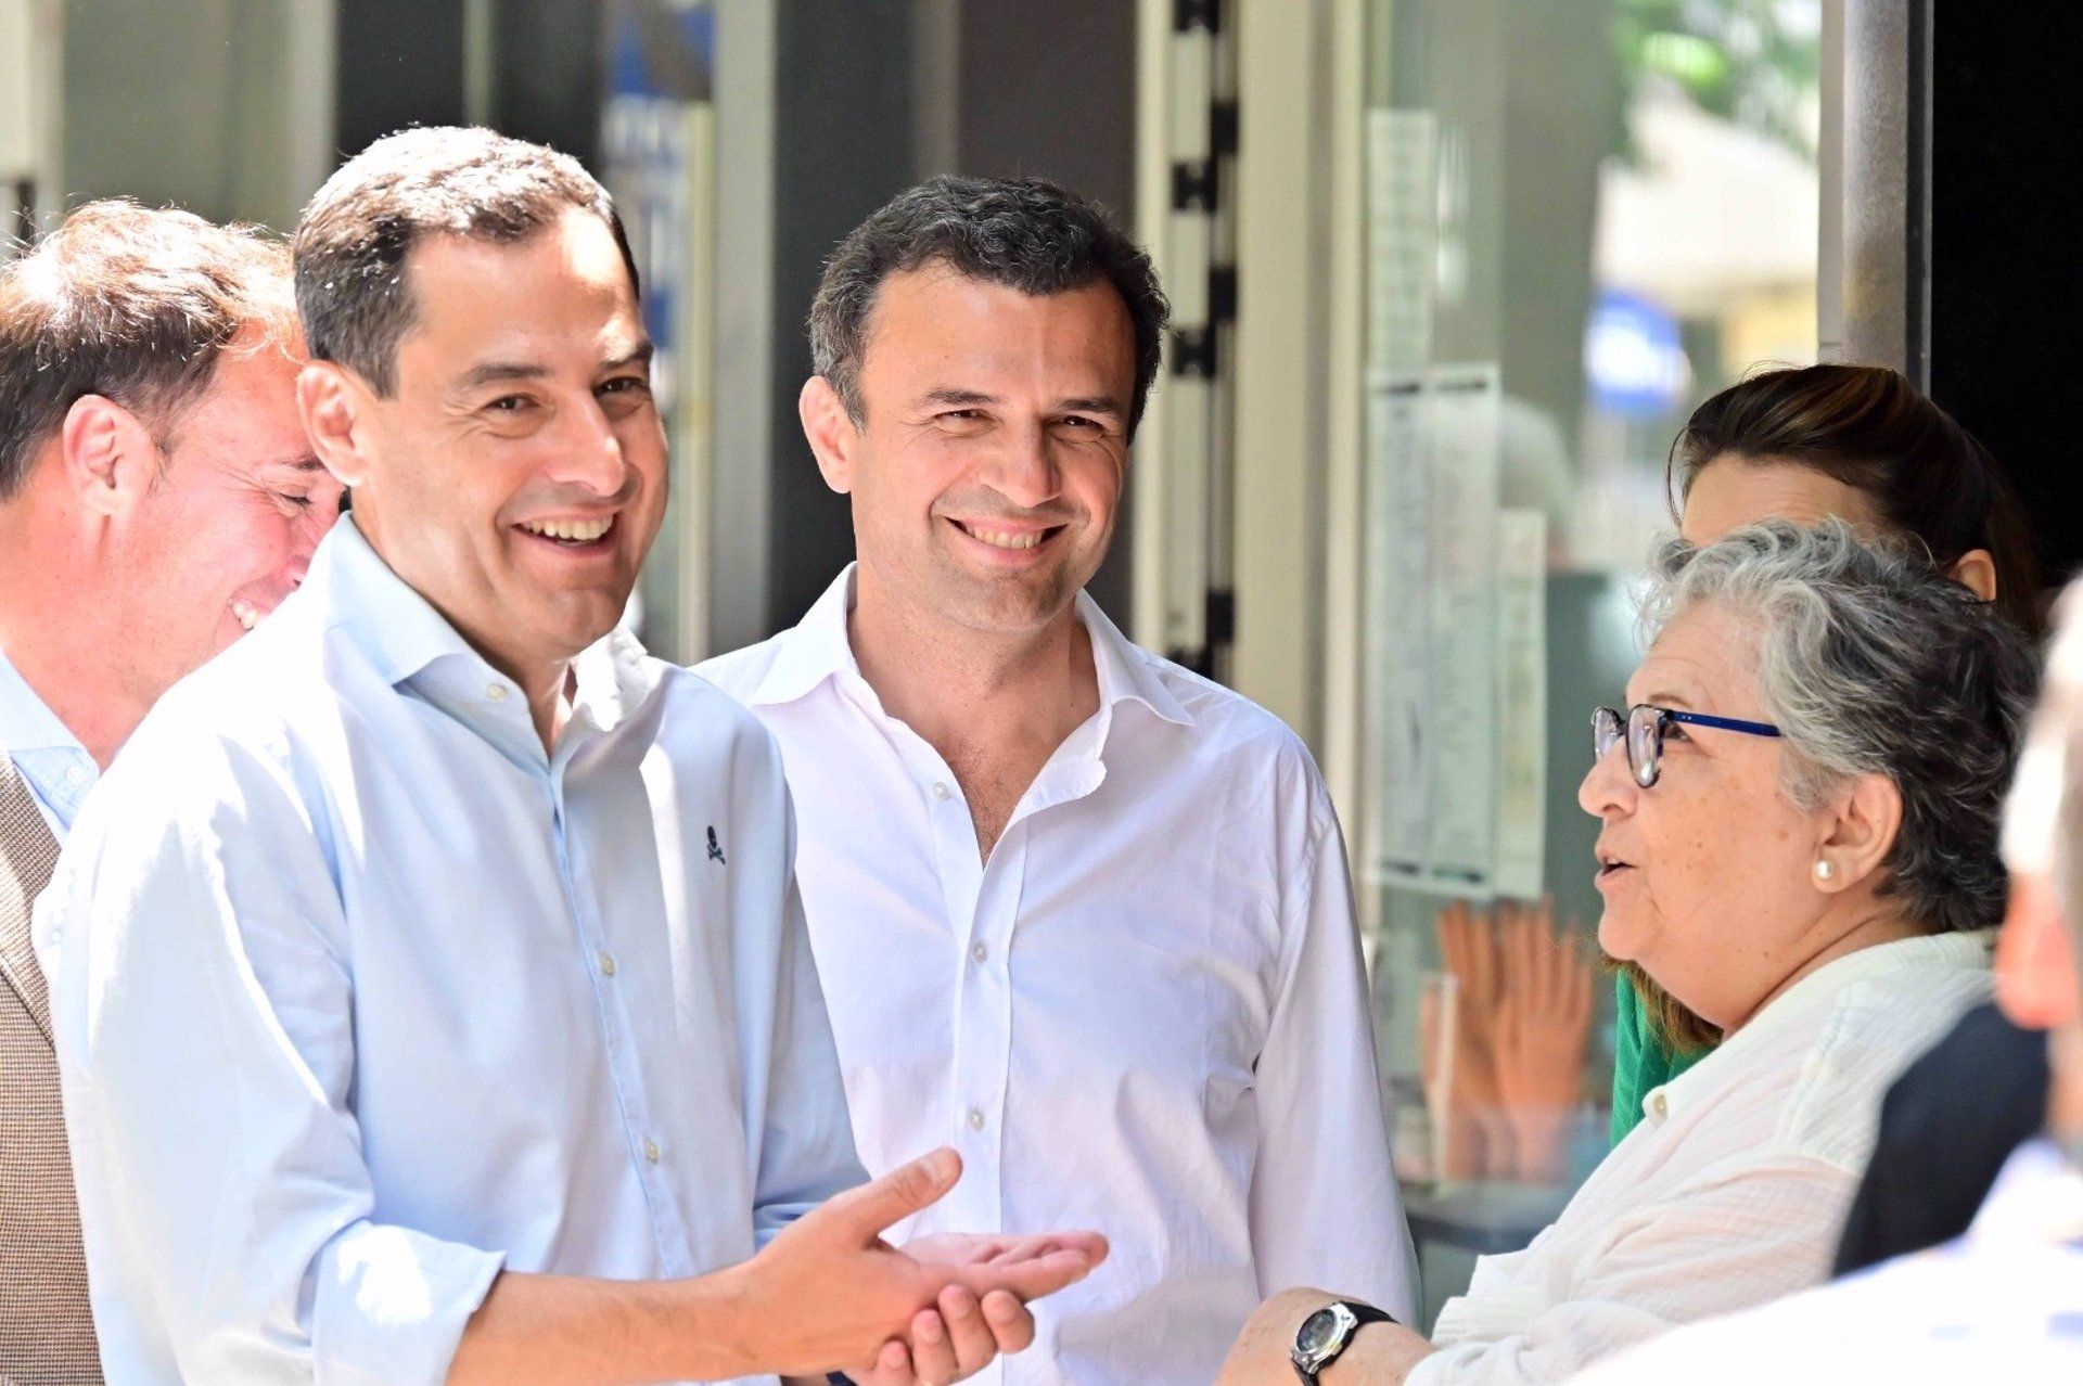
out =
<path fill-rule="evenodd" d="M 637 262 L 614 200 L 573 156 L 475 127 L 383 135 L 335 169 L 298 221 L 296 308 L 310 354 L 387 397 L 398 341 L 415 320 L 412 246 L 427 235 L 525 241 L 569 208 L 608 223 L 635 293 Z"/>

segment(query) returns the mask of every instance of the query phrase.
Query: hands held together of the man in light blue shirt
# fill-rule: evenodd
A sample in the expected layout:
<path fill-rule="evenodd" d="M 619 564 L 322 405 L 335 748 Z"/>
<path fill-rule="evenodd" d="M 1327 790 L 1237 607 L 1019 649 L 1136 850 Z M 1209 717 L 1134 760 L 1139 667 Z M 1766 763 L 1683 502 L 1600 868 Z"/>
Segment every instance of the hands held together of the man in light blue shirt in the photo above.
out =
<path fill-rule="evenodd" d="M 939 1201 L 962 1174 L 942 1149 L 806 1213 L 737 1276 L 737 1321 L 771 1332 L 781 1374 L 821 1382 L 842 1367 L 860 1386 L 946 1386 L 1033 1342 L 1027 1303 L 1083 1280 L 1106 1259 L 1098 1232 L 1046 1236 L 883 1232 Z"/>

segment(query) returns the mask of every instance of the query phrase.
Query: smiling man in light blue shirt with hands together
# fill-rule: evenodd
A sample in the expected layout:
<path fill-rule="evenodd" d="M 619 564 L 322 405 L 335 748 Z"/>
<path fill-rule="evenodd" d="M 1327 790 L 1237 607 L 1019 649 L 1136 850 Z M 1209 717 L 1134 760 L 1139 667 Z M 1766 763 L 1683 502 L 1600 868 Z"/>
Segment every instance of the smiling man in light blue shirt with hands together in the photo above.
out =
<path fill-rule="evenodd" d="M 908 1384 L 1017 1346 L 1014 1292 L 1102 1249 L 879 1240 L 958 1161 L 848 1190 L 773 741 L 614 633 L 667 472 L 606 194 L 394 135 L 312 200 L 296 287 L 354 512 L 146 718 L 37 914 L 108 1380 Z"/>

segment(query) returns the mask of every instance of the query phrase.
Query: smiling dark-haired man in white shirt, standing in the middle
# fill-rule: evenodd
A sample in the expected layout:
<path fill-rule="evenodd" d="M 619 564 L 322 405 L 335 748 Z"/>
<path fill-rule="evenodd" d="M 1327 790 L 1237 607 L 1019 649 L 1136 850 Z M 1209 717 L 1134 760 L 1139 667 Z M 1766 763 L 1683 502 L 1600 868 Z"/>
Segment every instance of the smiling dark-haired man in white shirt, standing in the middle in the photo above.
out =
<path fill-rule="evenodd" d="M 781 743 L 869 1170 L 952 1140 L 969 1174 L 917 1228 L 1112 1240 L 994 1382 L 1206 1386 L 1319 1265 L 1414 1299 L 1323 780 L 1083 593 L 1162 327 L 1150 260 L 1048 183 L 875 212 L 802 391 L 858 564 L 698 670 Z"/>

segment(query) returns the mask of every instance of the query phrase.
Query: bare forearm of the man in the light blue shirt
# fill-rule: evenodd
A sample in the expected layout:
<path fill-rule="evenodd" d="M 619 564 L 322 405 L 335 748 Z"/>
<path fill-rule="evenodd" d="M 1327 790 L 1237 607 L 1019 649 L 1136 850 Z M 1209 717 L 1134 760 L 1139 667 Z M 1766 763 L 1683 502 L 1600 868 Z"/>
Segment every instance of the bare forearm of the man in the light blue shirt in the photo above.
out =
<path fill-rule="evenodd" d="M 450 1386 L 610 1386 L 771 1371 L 731 1311 L 729 1272 L 698 1280 L 594 1280 L 504 1272 L 471 1315 Z"/>

